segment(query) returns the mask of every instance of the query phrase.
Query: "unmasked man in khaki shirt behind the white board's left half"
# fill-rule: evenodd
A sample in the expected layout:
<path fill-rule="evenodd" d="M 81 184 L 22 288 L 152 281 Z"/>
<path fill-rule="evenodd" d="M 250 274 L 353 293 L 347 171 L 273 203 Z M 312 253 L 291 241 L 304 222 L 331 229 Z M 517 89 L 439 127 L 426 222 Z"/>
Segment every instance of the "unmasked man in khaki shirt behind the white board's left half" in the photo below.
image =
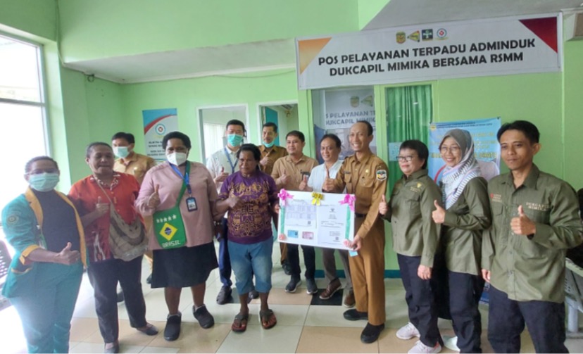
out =
<path fill-rule="evenodd" d="M 308 182 L 308 177 L 312 169 L 318 165 L 318 161 L 303 154 L 303 147 L 306 146 L 306 139 L 302 132 L 292 130 L 285 137 L 286 149 L 288 156 L 275 161 L 271 177 L 275 179 L 277 189 L 286 189 L 288 191 L 300 191 L 301 182 Z M 313 294 L 318 292 L 318 286 L 315 284 L 315 251 L 312 246 L 302 245 L 303 261 L 306 263 L 306 286 L 307 293 Z M 287 261 L 291 268 L 291 279 L 285 286 L 288 293 L 296 292 L 301 284 L 299 265 L 298 245 L 287 244 Z"/>

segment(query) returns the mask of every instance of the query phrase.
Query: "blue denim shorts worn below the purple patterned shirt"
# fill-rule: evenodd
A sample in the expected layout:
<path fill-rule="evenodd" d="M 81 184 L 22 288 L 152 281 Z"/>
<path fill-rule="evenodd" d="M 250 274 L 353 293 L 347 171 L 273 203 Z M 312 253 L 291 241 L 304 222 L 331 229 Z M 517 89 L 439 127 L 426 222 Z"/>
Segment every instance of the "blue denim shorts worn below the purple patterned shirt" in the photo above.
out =
<path fill-rule="evenodd" d="M 237 292 L 243 294 L 253 290 L 255 275 L 256 291 L 268 293 L 271 290 L 273 239 L 269 238 L 256 244 L 237 244 L 229 241 L 228 245 Z"/>

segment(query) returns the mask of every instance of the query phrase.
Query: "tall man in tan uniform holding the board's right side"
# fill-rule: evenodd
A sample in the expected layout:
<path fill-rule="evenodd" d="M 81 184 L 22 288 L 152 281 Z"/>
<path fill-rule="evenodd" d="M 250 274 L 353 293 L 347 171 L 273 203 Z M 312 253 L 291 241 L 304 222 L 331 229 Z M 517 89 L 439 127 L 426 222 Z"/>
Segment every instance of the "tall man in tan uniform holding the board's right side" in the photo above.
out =
<path fill-rule="evenodd" d="M 375 342 L 384 329 L 384 223 L 379 204 L 387 191 L 388 168 L 370 151 L 372 125 L 356 122 L 349 141 L 354 155 L 346 158 L 335 179 L 327 178 L 322 190 L 356 196 L 355 230 L 352 241 L 358 255 L 350 258 L 356 309 L 344 312 L 346 320 L 367 320 L 361 334 L 364 343 Z"/>

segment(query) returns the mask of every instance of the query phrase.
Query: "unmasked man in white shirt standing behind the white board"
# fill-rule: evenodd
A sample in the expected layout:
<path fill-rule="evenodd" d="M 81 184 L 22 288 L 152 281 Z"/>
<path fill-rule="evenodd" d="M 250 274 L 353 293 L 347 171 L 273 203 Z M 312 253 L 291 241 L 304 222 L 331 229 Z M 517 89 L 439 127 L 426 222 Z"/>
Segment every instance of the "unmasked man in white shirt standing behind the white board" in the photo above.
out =
<path fill-rule="evenodd" d="M 338 170 L 342 165 L 342 160 L 338 157 L 341 151 L 341 141 L 336 134 L 325 134 L 320 140 L 320 154 L 324 163 L 313 168 L 310 178 L 302 181 L 300 189 L 303 191 L 317 191 L 322 193 L 322 184 L 326 178 L 336 178 Z M 328 279 L 326 289 L 320 293 L 322 300 L 332 298 L 334 293 L 340 290 L 341 283 L 336 272 L 336 260 L 334 259 L 334 248 L 321 248 L 322 262 L 324 263 L 324 272 Z M 354 306 L 354 293 L 352 291 L 352 282 L 350 279 L 350 265 L 348 251 L 338 250 L 342 265 L 344 265 L 344 274 L 346 275 L 346 286 L 344 289 L 344 306 L 351 308 Z"/>

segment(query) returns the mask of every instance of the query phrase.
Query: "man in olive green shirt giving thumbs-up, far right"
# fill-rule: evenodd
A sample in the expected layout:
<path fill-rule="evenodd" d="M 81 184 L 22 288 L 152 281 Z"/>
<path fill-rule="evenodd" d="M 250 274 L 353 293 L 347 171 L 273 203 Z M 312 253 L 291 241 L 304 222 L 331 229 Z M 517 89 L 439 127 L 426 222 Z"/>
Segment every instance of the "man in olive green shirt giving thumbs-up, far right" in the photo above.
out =
<path fill-rule="evenodd" d="M 492 227 L 482 239 L 489 291 L 488 340 L 496 353 L 520 353 L 526 327 L 537 353 L 565 347 L 565 252 L 583 241 L 572 187 L 539 170 L 539 130 L 531 122 L 498 131 L 509 173 L 488 183 Z"/>

